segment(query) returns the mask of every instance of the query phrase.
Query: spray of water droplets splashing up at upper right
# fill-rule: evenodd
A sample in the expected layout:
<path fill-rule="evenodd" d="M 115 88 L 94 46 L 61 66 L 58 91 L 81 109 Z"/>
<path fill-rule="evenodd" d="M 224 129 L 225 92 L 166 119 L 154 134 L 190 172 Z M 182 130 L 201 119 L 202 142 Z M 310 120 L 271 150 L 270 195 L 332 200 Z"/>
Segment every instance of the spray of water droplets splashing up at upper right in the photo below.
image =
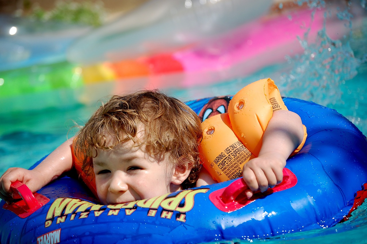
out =
<path fill-rule="evenodd" d="M 298 0 L 297 3 L 306 3 L 314 12 L 325 7 L 324 1 Z M 348 1 L 345 9 L 338 7 L 336 13 L 340 21 L 346 22 L 345 26 L 350 30 L 348 36 L 352 35 L 351 6 L 352 1 Z M 322 105 L 343 103 L 341 84 L 355 77 L 360 64 L 367 59 L 366 54 L 361 59 L 355 57 L 347 35 L 342 40 L 333 40 L 327 35 L 326 19 L 332 15 L 330 9 L 325 10 L 324 27 L 317 33 L 314 43 L 308 40 L 310 29 L 302 38 L 298 37 L 304 52 L 295 57 L 286 57 L 293 68 L 282 76 L 287 90 L 293 96 Z"/>

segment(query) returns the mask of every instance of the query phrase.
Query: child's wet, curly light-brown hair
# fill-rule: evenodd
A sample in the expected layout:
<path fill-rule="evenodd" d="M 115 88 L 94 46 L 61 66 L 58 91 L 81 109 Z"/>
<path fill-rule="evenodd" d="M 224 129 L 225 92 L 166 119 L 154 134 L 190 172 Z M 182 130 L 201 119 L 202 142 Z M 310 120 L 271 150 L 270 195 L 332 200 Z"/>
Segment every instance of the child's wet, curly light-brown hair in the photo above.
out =
<path fill-rule="evenodd" d="M 142 129 L 143 136 L 137 136 Z M 114 95 L 102 104 L 75 136 L 73 150 L 83 161 L 84 173 L 90 175 L 94 174 L 91 159 L 97 156 L 97 149 L 113 150 L 116 145 L 132 140 L 136 146 L 145 145 L 147 153 L 168 156 L 174 165 L 192 166 L 182 183 L 183 189 L 187 189 L 195 186 L 201 168 L 201 137 L 200 119 L 185 103 L 158 90 L 138 91 Z"/>

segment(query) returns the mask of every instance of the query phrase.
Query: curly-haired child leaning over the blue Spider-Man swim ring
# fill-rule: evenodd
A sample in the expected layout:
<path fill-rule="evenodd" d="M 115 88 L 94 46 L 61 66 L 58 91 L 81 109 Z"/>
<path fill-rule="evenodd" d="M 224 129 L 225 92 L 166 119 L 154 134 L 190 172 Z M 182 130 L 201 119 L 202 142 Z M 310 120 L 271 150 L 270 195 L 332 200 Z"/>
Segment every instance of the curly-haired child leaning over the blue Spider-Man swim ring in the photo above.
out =
<path fill-rule="evenodd" d="M 36 168 L 8 169 L 0 178 L 0 197 L 7 201 L 19 198 L 10 189 L 17 180 L 36 192 L 71 170 L 73 155 L 83 162 L 84 172 L 94 171 L 97 195 L 103 204 L 126 203 L 195 184 L 215 183 L 207 171 L 200 172 L 201 137 L 199 118 L 175 98 L 158 91 L 113 96 L 73 140 L 64 142 Z M 247 197 L 252 191 L 264 192 L 282 181 L 286 159 L 302 138 L 302 122 L 297 114 L 286 110 L 273 113 L 259 156 L 243 169 L 250 188 Z"/>

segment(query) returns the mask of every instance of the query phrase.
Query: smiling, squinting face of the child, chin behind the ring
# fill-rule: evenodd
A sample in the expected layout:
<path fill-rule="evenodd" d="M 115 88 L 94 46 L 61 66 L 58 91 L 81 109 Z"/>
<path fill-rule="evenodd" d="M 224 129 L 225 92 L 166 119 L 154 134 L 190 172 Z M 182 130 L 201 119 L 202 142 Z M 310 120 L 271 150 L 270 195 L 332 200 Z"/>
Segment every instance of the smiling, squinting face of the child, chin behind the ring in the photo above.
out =
<path fill-rule="evenodd" d="M 97 150 L 93 159 L 95 183 L 103 204 L 128 203 L 170 193 L 175 167 L 169 157 L 158 159 L 145 145 L 129 140 L 113 150 Z"/>

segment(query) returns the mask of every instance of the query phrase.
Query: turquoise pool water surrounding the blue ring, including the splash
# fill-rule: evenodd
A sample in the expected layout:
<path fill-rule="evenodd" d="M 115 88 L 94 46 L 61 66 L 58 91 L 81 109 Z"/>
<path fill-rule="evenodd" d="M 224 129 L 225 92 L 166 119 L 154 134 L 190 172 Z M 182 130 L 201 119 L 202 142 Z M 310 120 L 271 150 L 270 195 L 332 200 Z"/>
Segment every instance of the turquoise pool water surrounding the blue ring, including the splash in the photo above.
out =
<path fill-rule="evenodd" d="M 320 32 L 316 44 L 312 45 L 307 42 L 306 37 L 300 37 L 303 53 L 295 56 L 285 54 L 284 62 L 262 67 L 245 77 L 185 88 L 161 84 L 161 88 L 168 95 L 187 101 L 206 96 L 235 94 L 252 81 L 270 77 L 276 81 L 283 96 L 311 100 L 336 109 L 366 135 L 366 11 L 363 14 L 362 24 L 357 28 L 352 26 L 350 34 L 341 40 L 328 40 L 327 34 Z M 328 51 L 328 48 L 331 50 Z M 168 78 L 170 76 L 175 79 L 179 74 L 167 75 Z M 128 89 L 141 88 L 142 85 L 135 83 L 136 81 L 130 81 Z M 99 98 L 106 100 L 106 96 L 116 92 L 116 87 L 124 87 L 125 82 L 122 80 L 73 89 L 62 88 L 21 94 L 7 99 L 0 110 L 0 174 L 9 167 L 28 168 L 50 153 L 75 133 L 72 128 L 75 123 L 83 124 L 88 119 L 99 106 Z M 152 87 L 155 85 L 152 84 Z M 46 99 L 54 101 L 51 106 L 42 106 Z M 25 109 L 6 109 L 15 103 L 21 104 Z M 32 109 L 26 109 L 28 107 Z M 366 232 L 367 203 L 364 203 L 348 221 L 327 229 L 284 233 L 266 240 L 232 240 L 221 243 L 366 243 Z"/>

